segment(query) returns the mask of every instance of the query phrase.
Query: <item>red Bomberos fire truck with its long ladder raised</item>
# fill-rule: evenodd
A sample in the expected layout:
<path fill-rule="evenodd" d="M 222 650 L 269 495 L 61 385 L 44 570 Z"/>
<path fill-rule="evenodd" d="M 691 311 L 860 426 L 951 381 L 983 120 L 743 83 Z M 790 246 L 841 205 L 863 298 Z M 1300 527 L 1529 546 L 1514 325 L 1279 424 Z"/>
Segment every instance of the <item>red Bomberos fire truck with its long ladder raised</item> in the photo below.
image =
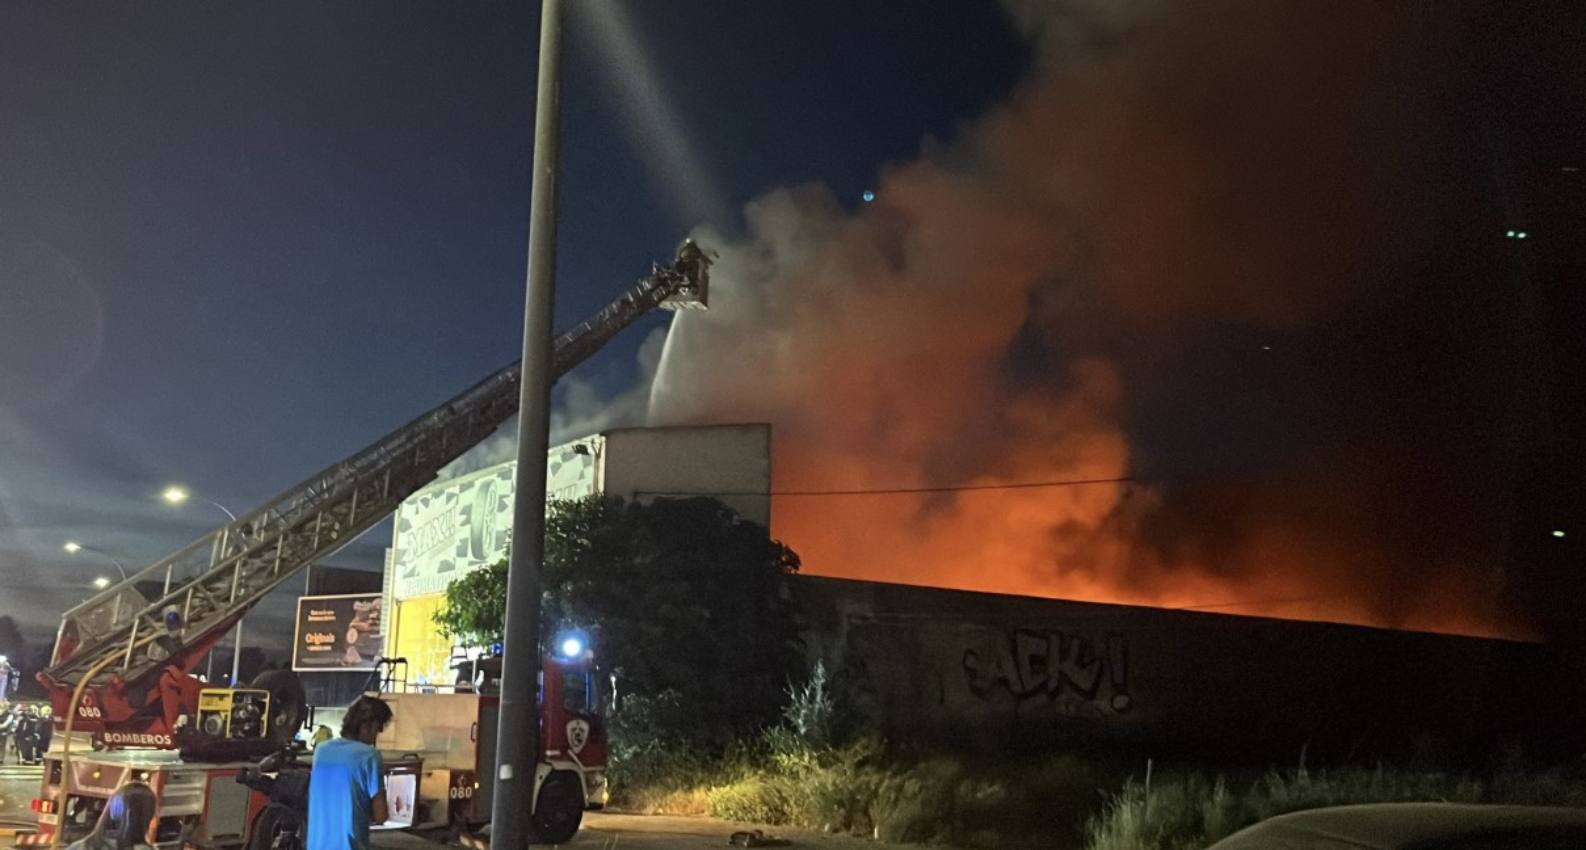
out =
<path fill-rule="evenodd" d="M 557 336 L 552 379 L 655 308 L 703 309 L 709 265 L 695 243 L 684 241 L 671 262 L 653 263 L 636 285 Z M 38 829 L 24 844 L 81 837 L 119 787 L 141 782 L 157 794 L 151 845 L 246 845 L 270 802 L 238 777 L 290 747 L 308 712 L 303 687 L 292 672 L 266 671 L 247 687 L 211 688 L 193 669 L 265 595 L 357 539 L 495 433 L 517 412 L 519 382 L 519 363 L 495 371 L 67 611 L 51 664 L 38 674 L 62 734 L 46 756 L 33 802 Z M 577 829 L 582 810 L 606 799 L 593 658 L 582 645 L 577 653 L 560 649 L 541 671 L 531 821 L 550 833 L 542 840 L 558 833 L 571 837 L 568 828 Z M 400 788 L 392 810 L 414 825 L 481 820 L 488 812 L 495 760 L 488 690 L 382 698 L 395 703 L 396 717 L 381 741 L 389 752 L 389 788 Z"/>

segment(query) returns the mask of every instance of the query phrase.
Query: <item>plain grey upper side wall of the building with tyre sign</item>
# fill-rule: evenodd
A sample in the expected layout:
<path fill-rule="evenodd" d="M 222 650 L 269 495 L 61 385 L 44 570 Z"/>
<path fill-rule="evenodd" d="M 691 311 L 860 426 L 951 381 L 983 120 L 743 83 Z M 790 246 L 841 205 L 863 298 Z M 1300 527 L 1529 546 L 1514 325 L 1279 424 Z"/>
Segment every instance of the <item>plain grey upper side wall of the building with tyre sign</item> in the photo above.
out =
<path fill-rule="evenodd" d="M 606 431 L 600 488 L 625 500 L 712 496 L 771 525 L 771 425 Z"/>

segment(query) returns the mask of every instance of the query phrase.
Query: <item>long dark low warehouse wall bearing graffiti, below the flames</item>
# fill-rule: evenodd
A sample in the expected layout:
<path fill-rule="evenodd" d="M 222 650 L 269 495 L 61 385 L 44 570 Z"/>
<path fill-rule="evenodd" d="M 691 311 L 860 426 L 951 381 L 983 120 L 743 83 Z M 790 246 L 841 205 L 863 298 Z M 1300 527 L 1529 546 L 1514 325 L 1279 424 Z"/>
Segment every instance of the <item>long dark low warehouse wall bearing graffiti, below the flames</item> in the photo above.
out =
<path fill-rule="evenodd" d="M 893 739 L 1366 756 L 1535 733 L 1540 647 L 799 577 L 809 645 Z"/>

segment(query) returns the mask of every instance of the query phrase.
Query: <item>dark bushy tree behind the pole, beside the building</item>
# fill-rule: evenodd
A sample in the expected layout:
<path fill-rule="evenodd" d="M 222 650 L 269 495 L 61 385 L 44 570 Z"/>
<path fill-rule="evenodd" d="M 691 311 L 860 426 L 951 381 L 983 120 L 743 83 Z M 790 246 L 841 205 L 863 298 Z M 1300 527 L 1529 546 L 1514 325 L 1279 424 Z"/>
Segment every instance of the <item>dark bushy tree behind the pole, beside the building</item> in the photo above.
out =
<path fill-rule="evenodd" d="M 787 579 L 798 555 L 715 500 L 554 503 L 546 523 L 541 641 L 587 633 L 615 674 L 620 714 L 725 742 L 777 718 L 801 669 Z M 454 582 L 436 615 L 465 642 L 501 639 L 506 565 Z M 671 710 L 668 710 L 668 706 Z"/>

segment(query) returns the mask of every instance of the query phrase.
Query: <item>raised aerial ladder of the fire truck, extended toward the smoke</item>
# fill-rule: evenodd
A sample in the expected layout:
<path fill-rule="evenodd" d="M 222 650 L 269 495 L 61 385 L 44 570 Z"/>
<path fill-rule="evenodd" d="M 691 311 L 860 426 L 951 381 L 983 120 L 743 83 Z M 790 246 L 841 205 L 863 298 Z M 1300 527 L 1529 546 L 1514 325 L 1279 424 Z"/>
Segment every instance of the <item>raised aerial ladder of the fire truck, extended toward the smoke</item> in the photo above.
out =
<path fill-rule="evenodd" d="M 684 241 L 671 262 L 653 263 L 628 292 L 557 336 L 550 379 L 655 308 L 704 308 L 709 265 L 693 241 Z M 503 366 L 373 446 L 67 611 L 51 664 L 38 674 L 57 722 L 70 715 L 78 729 L 111 747 L 178 747 L 184 718 L 197 710 L 203 688 L 192 676 L 198 661 L 265 595 L 357 539 L 495 433 L 517 412 L 519 381 L 517 362 Z M 303 710 L 301 690 L 295 679 L 284 679 L 290 677 L 259 687 L 271 693 L 268 726 L 290 734 Z M 297 693 L 287 693 L 293 687 Z"/>

